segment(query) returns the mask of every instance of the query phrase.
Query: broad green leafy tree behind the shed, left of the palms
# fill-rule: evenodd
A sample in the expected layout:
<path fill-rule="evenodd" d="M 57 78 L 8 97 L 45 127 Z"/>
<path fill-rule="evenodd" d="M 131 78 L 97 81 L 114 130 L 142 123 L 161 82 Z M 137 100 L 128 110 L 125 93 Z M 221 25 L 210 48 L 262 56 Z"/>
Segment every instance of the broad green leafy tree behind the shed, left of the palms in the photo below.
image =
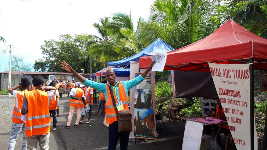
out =
<path fill-rule="evenodd" d="M 66 61 L 77 72 L 90 73 L 90 47 L 97 42 L 94 35 L 61 35 L 59 40 L 44 41 L 41 45 L 43 58 L 36 60 L 33 66 L 35 71 L 41 72 L 62 72 L 60 62 Z M 101 62 L 98 57 L 92 55 L 92 72 L 101 69 Z"/>

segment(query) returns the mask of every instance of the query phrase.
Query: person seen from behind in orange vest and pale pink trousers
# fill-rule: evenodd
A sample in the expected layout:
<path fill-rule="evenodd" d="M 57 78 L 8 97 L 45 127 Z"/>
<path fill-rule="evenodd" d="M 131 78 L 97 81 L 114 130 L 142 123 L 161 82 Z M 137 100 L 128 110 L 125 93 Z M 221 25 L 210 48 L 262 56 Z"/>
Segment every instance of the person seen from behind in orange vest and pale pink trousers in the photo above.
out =
<path fill-rule="evenodd" d="M 76 119 L 76 123 L 73 125 L 74 127 L 78 127 L 79 125 L 79 121 L 80 121 L 80 117 L 81 117 L 81 110 L 83 107 L 86 107 L 86 103 L 84 100 L 84 91 L 82 89 L 80 89 L 80 82 L 76 82 L 75 83 L 75 88 L 73 88 L 70 91 L 70 101 L 69 101 L 69 117 L 68 117 L 68 122 L 67 125 L 63 128 L 69 128 L 71 120 L 72 120 L 72 116 L 76 110 L 76 115 L 77 115 L 77 119 Z"/>

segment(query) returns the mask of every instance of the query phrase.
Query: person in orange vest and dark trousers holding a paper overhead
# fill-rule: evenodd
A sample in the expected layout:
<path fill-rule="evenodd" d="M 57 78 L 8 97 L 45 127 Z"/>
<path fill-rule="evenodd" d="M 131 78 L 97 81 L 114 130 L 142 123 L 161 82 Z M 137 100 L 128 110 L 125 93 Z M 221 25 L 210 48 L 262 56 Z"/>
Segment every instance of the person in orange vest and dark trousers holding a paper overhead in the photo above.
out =
<path fill-rule="evenodd" d="M 50 82 L 49 86 L 53 86 L 56 88 L 56 83 L 54 81 Z M 58 109 L 58 101 L 59 101 L 59 92 L 56 90 L 53 99 L 50 101 L 48 110 L 49 113 L 52 114 L 53 117 L 53 130 L 56 130 L 57 127 L 57 109 Z"/>

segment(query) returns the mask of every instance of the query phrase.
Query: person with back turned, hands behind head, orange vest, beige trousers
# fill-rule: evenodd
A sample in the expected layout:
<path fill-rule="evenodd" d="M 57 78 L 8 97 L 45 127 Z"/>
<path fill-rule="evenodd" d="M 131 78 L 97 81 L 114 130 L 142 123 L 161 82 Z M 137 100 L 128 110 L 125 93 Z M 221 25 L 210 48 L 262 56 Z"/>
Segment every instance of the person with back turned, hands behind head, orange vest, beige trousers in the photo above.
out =
<path fill-rule="evenodd" d="M 48 150 L 51 122 L 48 107 L 56 88 L 44 86 L 44 77 L 40 75 L 35 76 L 32 82 L 36 89 L 25 92 L 21 107 L 21 114 L 27 114 L 25 123 L 27 149 L 36 149 L 39 142 L 40 149 Z"/>

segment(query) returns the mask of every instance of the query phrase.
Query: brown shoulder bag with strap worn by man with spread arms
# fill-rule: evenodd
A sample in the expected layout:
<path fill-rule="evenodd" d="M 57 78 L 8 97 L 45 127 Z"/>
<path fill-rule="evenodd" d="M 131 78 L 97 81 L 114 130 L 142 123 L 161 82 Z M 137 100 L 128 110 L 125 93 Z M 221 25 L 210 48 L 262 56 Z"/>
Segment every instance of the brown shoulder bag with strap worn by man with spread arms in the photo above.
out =
<path fill-rule="evenodd" d="M 114 99 L 112 88 L 109 88 L 111 99 L 113 102 L 114 109 L 118 117 L 118 132 L 131 132 L 132 129 L 132 114 L 131 113 L 118 113 L 116 102 Z"/>

